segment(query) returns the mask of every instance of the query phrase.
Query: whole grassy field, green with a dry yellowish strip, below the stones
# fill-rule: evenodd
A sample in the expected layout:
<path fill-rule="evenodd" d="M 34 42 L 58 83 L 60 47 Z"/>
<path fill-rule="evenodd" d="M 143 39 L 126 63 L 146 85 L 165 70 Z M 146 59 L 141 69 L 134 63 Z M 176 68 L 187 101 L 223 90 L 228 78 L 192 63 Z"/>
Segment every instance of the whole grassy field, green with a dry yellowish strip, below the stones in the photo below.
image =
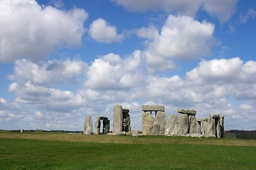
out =
<path fill-rule="evenodd" d="M 255 169 L 256 140 L 0 132 L 0 169 Z"/>

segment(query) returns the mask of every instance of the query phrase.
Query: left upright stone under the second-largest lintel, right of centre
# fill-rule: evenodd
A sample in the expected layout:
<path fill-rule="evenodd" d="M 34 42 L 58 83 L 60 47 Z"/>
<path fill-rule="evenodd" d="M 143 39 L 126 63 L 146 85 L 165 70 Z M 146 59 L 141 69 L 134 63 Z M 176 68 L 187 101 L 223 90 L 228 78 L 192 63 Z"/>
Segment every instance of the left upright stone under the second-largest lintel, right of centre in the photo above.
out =
<path fill-rule="evenodd" d="M 178 135 L 186 135 L 189 133 L 189 116 L 187 114 L 178 114 L 178 123 L 177 123 Z"/>

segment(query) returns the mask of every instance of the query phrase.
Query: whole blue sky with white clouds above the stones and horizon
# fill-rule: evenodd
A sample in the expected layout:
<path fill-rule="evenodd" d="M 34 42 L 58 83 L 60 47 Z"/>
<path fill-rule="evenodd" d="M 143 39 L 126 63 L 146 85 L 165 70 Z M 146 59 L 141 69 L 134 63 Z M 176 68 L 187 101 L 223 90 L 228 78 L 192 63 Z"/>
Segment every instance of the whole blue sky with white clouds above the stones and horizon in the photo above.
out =
<path fill-rule="evenodd" d="M 0 129 L 82 130 L 143 104 L 256 129 L 255 1 L 0 1 Z"/>

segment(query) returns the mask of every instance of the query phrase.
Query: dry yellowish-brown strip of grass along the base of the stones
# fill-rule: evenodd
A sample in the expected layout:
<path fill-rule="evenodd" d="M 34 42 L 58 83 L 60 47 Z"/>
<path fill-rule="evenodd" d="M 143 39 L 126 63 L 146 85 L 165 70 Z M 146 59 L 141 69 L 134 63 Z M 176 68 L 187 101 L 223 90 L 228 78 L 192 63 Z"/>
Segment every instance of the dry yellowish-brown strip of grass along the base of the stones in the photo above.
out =
<path fill-rule="evenodd" d="M 0 138 L 52 140 L 67 142 L 100 142 L 122 144 L 179 144 L 179 145 L 218 145 L 218 146 L 251 146 L 256 147 L 256 140 L 241 140 L 235 138 L 192 138 L 165 136 L 113 136 L 113 135 L 84 135 L 52 132 L 11 132 L 0 131 Z"/>

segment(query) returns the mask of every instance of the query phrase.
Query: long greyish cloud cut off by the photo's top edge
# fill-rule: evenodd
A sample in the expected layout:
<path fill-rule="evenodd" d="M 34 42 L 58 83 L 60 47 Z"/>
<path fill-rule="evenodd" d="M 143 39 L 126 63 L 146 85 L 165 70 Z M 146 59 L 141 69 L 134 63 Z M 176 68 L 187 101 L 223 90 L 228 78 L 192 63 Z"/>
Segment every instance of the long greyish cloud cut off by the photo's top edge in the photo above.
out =
<path fill-rule="evenodd" d="M 194 17 L 204 10 L 219 21 L 226 22 L 235 13 L 238 0 L 114 0 L 129 11 L 165 11 Z"/>

